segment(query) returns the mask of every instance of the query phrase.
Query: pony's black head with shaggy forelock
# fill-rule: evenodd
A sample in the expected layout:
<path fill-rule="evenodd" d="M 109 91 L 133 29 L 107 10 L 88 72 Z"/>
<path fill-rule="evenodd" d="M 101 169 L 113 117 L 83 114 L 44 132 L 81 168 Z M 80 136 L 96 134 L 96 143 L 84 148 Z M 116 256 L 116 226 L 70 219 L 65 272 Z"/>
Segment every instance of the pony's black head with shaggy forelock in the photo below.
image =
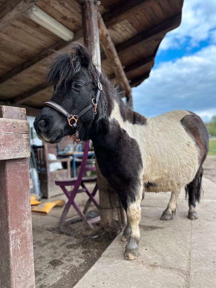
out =
<path fill-rule="evenodd" d="M 76 115 L 95 98 L 99 78 L 100 73 L 92 63 L 90 53 L 75 42 L 69 53 L 56 57 L 49 67 L 47 80 L 55 83 L 50 101 L 60 105 L 71 115 Z M 77 120 L 80 139 L 87 140 L 95 117 L 92 106 Z M 49 143 L 58 143 L 64 136 L 76 131 L 76 128 L 68 125 L 65 116 L 49 106 L 41 110 L 35 119 L 34 128 L 38 138 Z"/>

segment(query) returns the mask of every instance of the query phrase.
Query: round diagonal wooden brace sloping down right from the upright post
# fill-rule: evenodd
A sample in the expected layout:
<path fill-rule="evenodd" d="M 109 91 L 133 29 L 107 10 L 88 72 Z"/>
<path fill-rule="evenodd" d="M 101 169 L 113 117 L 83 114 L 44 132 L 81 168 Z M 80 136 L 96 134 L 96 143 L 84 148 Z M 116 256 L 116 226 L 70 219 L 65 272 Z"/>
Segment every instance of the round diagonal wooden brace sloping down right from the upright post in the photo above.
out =
<path fill-rule="evenodd" d="M 131 98 L 131 86 L 125 75 L 122 63 L 116 52 L 116 48 L 115 45 L 113 44 L 110 33 L 107 30 L 104 20 L 102 19 L 101 13 L 98 11 L 97 14 L 98 14 L 98 28 L 99 28 L 99 37 L 101 46 L 112 65 L 116 77 L 119 79 L 119 83 L 122 86 L 122 89 L 125 91 L 127 100 L 129 100 Z"/>

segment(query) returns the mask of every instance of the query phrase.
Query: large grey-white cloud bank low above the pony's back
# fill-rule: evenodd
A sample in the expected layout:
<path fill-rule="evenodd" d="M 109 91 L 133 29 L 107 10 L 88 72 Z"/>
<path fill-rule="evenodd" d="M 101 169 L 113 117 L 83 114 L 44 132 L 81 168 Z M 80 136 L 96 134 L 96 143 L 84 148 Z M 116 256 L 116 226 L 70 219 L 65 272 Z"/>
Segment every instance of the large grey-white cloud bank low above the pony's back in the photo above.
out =
<path fill-rule="evenodd" d="M 206 120 L 216 110 L 215 71 L 216 45 L 175 62 L 161 62 L 148 79 L 133 88 L 134 110 L 153 117 L 186 109 L 198 112 Z"/>

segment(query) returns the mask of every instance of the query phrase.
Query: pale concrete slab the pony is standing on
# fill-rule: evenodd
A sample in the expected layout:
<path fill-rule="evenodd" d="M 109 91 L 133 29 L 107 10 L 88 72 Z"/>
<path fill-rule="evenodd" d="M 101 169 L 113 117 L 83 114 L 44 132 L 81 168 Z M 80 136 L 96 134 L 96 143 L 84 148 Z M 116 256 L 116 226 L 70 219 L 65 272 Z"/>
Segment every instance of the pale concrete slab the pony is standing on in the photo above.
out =
<path fill-rule="evenodd" d="M 203 178 L 199 218 L 187 219 L 184 190 L 176 217 L 161 221 L 170 193 L 146 193 L 140 221 L 140 257 L 123 258 L 118 235 L 75 288 L 216 287 L 216 184 Z"/>

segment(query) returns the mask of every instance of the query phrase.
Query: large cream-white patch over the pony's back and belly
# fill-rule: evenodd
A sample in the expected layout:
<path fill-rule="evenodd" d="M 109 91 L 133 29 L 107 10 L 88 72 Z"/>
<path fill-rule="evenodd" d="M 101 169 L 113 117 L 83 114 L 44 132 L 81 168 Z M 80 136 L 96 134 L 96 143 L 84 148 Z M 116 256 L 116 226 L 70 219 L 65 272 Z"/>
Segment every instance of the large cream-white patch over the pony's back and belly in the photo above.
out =
<path fill-rule="evenodd" d="M 190 183 L 199 167 L 199 149 L 195 140 L 185 131 L 181 119 L 190 113 L 175 110 L 154 118 L 146 124 L 124 121 L 115 102 L 110 120 L 117 121 L 128 135 L 137 141 L 143 161 L 140 179 L 156 183 L 146 191 L 167 192 Z"/>

